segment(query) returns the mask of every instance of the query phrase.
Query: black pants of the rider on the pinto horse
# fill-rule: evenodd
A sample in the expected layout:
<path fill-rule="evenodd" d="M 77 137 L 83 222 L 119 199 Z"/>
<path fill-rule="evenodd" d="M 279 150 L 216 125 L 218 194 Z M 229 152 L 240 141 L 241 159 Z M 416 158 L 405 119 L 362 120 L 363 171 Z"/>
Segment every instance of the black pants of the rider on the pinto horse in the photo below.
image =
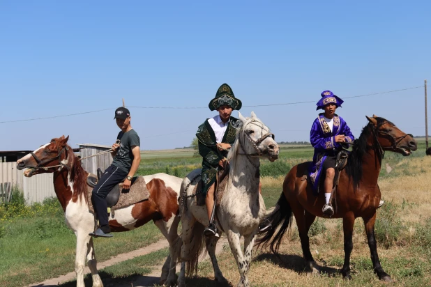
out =
<path fill-rule="evenodd" d="M 121 180 L 126 178 L 127 174 L 126 171 L 111 165 L 105 170 L 102 178 L 100 178 L 97 185 L 93 188 L 91 201 L 93 201 L 94 211 L 96 211 L 99 219 L 99 226 L 108 225 L 106 196 L 115 185 L 118 185 L 121 183 Z"/>

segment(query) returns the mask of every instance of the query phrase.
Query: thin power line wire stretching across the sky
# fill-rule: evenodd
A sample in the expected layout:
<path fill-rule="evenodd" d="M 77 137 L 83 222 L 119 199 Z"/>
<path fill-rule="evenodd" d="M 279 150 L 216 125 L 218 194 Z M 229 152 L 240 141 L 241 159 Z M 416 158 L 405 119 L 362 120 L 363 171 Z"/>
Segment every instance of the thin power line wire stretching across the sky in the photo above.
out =
<path fill-rule="evenodd" d="M 382 94 L 386 94 L 386 93 L 395 93 L 395 92 L 400 92 L 400 91 L 407 91 L 407 90 L 412 90 L 414 88 L 423 88 L 423 86 L 414 86 L 411 88 L 401 88 L 398 90 L 392 90 L 392 91 L 386 91 L 386 92 L 380 92 L 380 93 L 369 93 L 369 94 L 365 94 L 365 95 L 352 95 L 352 96 L 347 96 L 347 97 L 343 97 L 343 98 L 345 98 L 345 99 L 361 98 L 361 97 L 367 97 L 370 95 L 382 95 Z M 303 101 L 303 102 L 285 102 L 285 103 L 278 103 L 278 104 L 255 104 L 255 105 L 248 105 L 248 106 L 243 106 L 243 107 L 271 107 L 271 106 L 282 106 L 282 105 L 290 105 L 290 104 L 308 104 L 310 102 L 315 102 L 315 100 Z M 128 106 L 128 107 L 137 108 L 137 109 L 207 109 L 208 108 L 208 107 L 143 107 L 143 106 Z M 66 115 L 61 115 L 61 116 L 47 116 L 47 117 L 43 117 L 43 118 L 27 118 L 24 120 L 0 121 L 0 123 L 17 123 L 17 122 L 23 122 L 23 121 L 45 120 L 45 119 L 49 119 L 49 118 L 62 118 L 62 117 L 66 117 L 66 116 L 77 116 L 77 115 L 81 115 L 81 114 L 92 114 L 92 113 L 97 113 L 99 111 L 108 111 L 110 109 L 116 109 L 116 108 L 98 109 L 96 111 L 84 111 L 81 113 L 66 114 Z"/>

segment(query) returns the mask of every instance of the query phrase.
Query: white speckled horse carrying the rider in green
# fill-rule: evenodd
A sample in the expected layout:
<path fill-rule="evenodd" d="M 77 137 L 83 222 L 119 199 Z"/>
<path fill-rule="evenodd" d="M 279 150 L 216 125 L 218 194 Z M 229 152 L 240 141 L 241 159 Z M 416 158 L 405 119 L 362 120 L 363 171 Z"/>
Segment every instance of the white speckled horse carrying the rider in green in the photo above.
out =
<path fill-rule="evenodd" d="M 252 256 L 257 228 L 264 218 L 266 208 L 262 195 L 259 193 L 259 158 L 267 157 L 271 162 L 278 158 L 278 144 L 273 139 L 269 128 L 251 113 L 251 118 L 244 118 L 236 134 L 235 142 L 227 155 L 230 162 L 229 179 L 216 208 L 215 217 L 219 235 L 221 231 L 227 234 L 229 245 L 238 265 L 241 280 L 238 286 L 249 286 L 248 269 Z M 181 185 L 181 196 L 190 196 L 199 180 L 192 181 L 201 173 L 196 169 L 186 176 Z M 180 204 L 184 198 L 180 197 Z M 181 208 L 180 208 L 181 210 Z M 181 272 L 179 286 L 185 286 L 186 263 L 188 274 L 196 271 L 199 254 L 204 249 L 202 244 L 204 226 L 209 224 L 205 206 L 196 205 L 196 196 L 186 199 L 186 206 L 182 206 L 182 247 Z M 244 236 L 244 250 L 241 251 L 240 238 Z M 215 258 L 215 245 L 219 238 L 205 238 L 206 250 L 209 253 L 214 268 L 214 277 L 218 282 L 226 282 L 217 259 Z M 178 245 L 177 245 L 178 247 Z M 167 281 L 167 284 L 174 282 Z"/>

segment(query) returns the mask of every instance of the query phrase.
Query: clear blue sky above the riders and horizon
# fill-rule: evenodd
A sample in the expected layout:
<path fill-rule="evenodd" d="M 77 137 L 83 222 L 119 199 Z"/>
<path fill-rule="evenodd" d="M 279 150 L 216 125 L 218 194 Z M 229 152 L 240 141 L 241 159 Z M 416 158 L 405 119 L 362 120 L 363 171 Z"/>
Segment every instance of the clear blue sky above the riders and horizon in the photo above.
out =
<path fill-rule="evenodd" d="M 110 145 L 121 98 L 207 107 L 225 82 L 244 106 L 313 101 L 241 109 L 278 141 L 308 141 L 326 89 L 343 98 L 431 81 L 430 11 L 430 1 L 0 1 L 0 122 L 109 109 L 0 123 L 0 150 L 62 134 L 73 147 Z M 423 135 L 423 94 L 346 99 L 337 112 L 356 137 L 372 114 Z M 216 113 L 130 112 L 142 149 L 188 146 Z"/>

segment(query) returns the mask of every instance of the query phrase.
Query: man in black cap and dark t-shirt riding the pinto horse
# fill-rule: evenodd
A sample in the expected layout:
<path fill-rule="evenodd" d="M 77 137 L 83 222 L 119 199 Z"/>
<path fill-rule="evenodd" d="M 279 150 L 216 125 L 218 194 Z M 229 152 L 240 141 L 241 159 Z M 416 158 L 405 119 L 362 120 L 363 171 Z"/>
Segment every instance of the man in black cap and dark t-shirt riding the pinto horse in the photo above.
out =
<path fill-rule="evenodd" d="M 132 178 L 141 162 L 139 136 L 130 125 L 130 111 L 125 107 L 119 107 L 115 110 L 114 119 L 116 120 L 116 125 L 121 129 L 121 132 L 116 137 L 117 142 L 112 145 L 114 150 L 111 155 L 114 157 L 114 161 L 105 170 L 96 187 L 93 188 L 91 196 L 91 201 L 93 201 L 93 207 L 99 220 L 99 227 L 96 232 L 90 233 L 94 237 L 112 237 L 112 234 L 109 234 L 111 228 L 109 228 L 108 223 L 106 196 L 124 178 L 126 179 L 123 183 L 123 189 L 129 189 L 132 184 Z"/>

